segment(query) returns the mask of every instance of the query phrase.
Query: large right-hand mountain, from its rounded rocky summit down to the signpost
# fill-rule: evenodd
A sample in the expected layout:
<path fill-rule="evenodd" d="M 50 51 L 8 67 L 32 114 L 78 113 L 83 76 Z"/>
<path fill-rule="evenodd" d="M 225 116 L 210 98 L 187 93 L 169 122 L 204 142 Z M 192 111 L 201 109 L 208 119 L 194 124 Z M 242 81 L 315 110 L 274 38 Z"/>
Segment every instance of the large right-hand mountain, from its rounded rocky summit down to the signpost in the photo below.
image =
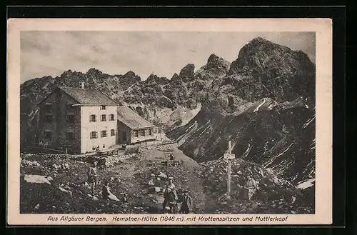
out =
<path fill-rule="evenodd" d="M 213 80 L 201 111 L 168 136 L 200 162 L 219 159 L 231 140 L 237 158 L 297 184 L 315 173 L 314 92 L 315 65 L 306 54 L 253 39 Z"/>

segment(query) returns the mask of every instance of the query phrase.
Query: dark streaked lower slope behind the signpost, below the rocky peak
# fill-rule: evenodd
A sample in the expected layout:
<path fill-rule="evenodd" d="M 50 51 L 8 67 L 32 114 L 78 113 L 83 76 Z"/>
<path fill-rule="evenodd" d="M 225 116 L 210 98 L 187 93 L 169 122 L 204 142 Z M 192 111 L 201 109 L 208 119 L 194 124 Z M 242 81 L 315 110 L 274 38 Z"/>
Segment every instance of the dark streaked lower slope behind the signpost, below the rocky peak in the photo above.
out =
<path fill-rule="evenodd" d="M 304 107 L 230 116 L 200 111 L 168 136 L 198 162 L 221 158 L 231 140 L 236 158 L 262 164 L 291 181 L 313 177 L 315 170 L 315 122 L 313 111 Z"/>

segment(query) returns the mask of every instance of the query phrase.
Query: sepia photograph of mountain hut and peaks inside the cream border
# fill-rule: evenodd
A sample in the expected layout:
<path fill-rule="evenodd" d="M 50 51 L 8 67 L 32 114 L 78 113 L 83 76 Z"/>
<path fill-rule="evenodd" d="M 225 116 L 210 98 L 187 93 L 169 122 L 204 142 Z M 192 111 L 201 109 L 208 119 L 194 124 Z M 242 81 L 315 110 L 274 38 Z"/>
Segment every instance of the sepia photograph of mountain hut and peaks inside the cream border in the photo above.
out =
<path fill-rule="evenodd" d="M 316 215 L 316 31 L 18 37 L 19 214 Z"/>

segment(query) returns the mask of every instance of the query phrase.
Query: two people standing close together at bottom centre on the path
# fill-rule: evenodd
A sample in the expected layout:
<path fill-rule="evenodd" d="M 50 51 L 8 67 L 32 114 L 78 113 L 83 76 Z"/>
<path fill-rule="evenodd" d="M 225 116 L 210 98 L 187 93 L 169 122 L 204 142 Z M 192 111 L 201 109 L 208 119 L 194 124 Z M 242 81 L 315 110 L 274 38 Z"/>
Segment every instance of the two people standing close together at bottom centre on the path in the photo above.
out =
<path fill-rule="evenodd" d="M 182 202 L 180 210 L 178 210 L 178 202 Z M 180 195 L 179 198 L 172 178 L 169 178 L 169 183 L 166 185 L 164 191 L 164 212 L 166 211 L 166 207 L 169 207 L 170 214 L 188 214 L 193 208 L 193 200 L 192 197 L 188 195 L 188 190 L 184 190 L 183 195 Z"/>

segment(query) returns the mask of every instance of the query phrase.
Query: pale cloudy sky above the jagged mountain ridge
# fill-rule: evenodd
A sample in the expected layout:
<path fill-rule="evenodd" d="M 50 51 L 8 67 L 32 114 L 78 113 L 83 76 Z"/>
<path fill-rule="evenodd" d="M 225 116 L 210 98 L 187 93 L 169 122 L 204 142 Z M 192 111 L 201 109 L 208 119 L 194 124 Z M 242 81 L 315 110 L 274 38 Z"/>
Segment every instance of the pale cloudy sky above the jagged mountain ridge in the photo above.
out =
<path fill-rule="evenodd" d="M 210 54 L 233 61 L 257 36 L 304 51 L 315 63 L 315 33 L 21 31 L 21 82 L 91 68 L 111 75 L 131 70 L 141 79 L 150 74 L 171 79 L 188 63 L 199 69 Z"/>

